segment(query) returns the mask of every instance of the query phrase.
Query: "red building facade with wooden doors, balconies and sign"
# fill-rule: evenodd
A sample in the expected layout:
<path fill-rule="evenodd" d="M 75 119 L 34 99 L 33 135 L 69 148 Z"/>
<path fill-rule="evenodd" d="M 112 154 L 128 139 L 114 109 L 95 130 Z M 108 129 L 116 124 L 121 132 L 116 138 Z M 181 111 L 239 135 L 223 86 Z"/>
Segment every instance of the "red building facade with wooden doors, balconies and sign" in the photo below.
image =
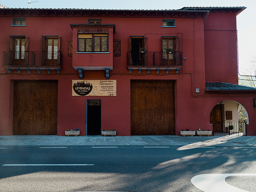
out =
<path fill-rule="evenodd" d="M 226 132 L 239 105 L 256 135 L 256 90 L 237 85 L 244 9 L 1 9 L 0 135 Z"/>

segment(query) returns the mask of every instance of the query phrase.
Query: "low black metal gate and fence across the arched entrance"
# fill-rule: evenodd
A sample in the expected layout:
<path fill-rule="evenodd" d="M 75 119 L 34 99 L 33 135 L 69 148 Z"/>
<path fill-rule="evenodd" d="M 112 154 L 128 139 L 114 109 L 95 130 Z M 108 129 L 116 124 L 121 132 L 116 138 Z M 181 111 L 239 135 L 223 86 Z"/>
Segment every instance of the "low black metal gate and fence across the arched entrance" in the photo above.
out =
<path fill-rule="evenodd" d="M 222 123 L 213 124 L 213 135 L 244 135 L 246 136 L 246 120 L 239 120 L 239 122 L 226 120 Z M 221 127 L 221 129 L 216 129 Z M 215 128 L 215 130 L 214 130 Z"/>

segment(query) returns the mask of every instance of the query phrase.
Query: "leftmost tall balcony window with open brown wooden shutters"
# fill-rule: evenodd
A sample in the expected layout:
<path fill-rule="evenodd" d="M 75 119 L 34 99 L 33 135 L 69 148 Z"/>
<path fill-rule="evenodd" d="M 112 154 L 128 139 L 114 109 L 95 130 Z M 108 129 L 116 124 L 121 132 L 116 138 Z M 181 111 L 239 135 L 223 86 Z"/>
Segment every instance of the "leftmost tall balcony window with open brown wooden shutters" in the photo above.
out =
<path fill-rule="evenodd" d="M 12 64 L 28 64 L 28 36 L 9 36 L 9 54 Z"/>

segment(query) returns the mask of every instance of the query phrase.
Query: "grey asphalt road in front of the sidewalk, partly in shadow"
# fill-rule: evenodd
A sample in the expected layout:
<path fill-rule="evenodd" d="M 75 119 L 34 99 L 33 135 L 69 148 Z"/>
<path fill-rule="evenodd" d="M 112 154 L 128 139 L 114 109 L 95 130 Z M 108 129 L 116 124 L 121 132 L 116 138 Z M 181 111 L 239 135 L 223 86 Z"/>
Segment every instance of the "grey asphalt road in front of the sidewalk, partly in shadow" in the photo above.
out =
<path fill-rule="evenodd" d="M 191 182 L 196 175 L 256 173 L 255 152 L 179 146 L 0 148 L 0 191 L 197 192 Z M 225 180 L 253 192 L 255 179 L 238 175 Z"/>

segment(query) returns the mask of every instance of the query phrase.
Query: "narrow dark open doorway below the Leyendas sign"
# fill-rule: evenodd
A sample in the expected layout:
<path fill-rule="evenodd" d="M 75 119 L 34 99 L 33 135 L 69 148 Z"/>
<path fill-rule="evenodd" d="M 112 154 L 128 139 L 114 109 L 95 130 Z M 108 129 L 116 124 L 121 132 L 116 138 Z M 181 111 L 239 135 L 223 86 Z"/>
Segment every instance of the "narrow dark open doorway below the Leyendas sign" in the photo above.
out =
<path fill-rule="evenodd" d="M 87 135 L 101 134 L 101 100 L 87 100 Z"/>

